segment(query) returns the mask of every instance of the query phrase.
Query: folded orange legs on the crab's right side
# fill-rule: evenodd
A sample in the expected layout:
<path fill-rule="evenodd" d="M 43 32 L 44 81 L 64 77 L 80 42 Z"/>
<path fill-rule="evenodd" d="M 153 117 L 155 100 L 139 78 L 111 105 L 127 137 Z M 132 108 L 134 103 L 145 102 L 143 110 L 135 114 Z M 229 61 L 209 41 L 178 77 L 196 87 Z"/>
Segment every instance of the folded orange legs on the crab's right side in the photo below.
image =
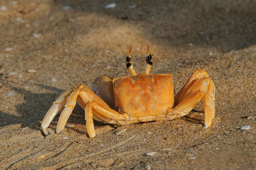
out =
<path fill-rule="evenodd" d="M 175 96 L 175 107 L 169 113 L 182 117 L 192 110 L 201 98 L 204 104 L 204 125 L 210 127 L 215 115 L 215 87 L 207 72 L 197 70 Z"/>

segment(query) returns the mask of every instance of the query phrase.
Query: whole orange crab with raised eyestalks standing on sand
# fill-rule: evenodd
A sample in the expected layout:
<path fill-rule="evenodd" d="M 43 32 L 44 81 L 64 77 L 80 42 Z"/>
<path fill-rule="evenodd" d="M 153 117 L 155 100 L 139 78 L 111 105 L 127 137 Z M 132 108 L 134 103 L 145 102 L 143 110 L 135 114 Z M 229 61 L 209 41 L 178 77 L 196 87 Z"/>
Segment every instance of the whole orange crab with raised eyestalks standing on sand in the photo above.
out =
<path fill-rule="evenodd" d="M 146 70 L 137 74 L 133 68 L 131 47 L 126 66 L 131 76 L 111 78 L 103 75 L 94 80 L 93 92 L 83 84 L 74 85 L 61 93 L 41 123 L 46 128 L 56 114 L 63 111 L 57 123 L 60 133 L 70 117 L 76 102 L 85 110 L 86 129 L 89 137 L 95 136 L 93 119 L 116 125 L 148 121 L 173 120 L 188 114 L 203 98 L 204 128 L 210 127 L 215 115 L 215 87 L 204 69 L 196 70 L 183 88 L 174 96 L 171 74 L 150 74 L 153 58 L 147 47 Z"/>

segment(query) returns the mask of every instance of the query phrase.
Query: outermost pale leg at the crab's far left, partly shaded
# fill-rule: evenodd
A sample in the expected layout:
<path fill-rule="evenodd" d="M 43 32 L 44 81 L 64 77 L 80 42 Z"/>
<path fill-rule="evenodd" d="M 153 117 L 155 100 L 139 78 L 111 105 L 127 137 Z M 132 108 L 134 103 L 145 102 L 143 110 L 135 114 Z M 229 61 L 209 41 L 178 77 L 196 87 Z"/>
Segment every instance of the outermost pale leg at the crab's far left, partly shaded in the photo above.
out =
<path fill-rule="evenodd" d="M 46 116 L 41 123 L 41 128 L 45 135 L 48 135 L 46 128 L 50 125 L 51 121 L 54 119 L 59 110 L 61 110 L 61 108 L 64 106 L 67 97 L 70 95 L 71 91 L 72 89 L 60 94 L 59 97 L 55 100 L 54 104 L 47 111 Z"/>

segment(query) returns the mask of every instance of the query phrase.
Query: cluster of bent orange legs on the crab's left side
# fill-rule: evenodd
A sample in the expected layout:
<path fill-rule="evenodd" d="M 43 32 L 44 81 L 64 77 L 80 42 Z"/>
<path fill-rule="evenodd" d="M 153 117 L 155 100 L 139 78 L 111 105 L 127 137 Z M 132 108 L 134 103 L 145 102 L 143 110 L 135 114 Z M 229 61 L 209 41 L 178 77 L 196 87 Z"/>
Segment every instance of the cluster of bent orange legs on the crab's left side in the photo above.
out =
<path fill-rule="evenodd" d="M 127 119 L 123 114 L 112 110 L 99 96 L 91 92 L 85 85 L 81 84 L 76 85 L 71 90 L 61 94 L 60 97 L 57 98 L 55 104 L 48 110 L 41 124 L 42 130 L 46 135 L 46 128 L 49 126 L 57 112 L 63 107 L 64 103 L 66 103 L 58 120 L 56 133 L 59 133 L 64 129 L 76 101 L 78 101 L 80 106 L 85 110 L 86 127 L 90 137 L 95 136 L 93 118 L 111 124 L 115 124 L 116 120 Z"/>

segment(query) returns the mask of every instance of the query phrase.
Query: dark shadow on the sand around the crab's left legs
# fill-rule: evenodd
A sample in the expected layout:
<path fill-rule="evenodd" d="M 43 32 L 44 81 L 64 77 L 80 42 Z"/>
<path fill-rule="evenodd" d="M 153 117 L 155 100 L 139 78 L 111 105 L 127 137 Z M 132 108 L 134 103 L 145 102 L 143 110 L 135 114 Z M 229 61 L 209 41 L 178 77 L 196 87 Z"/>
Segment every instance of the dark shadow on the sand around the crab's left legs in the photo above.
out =
<path fill-rule="evenodd" d="M 64 90 L 55 88 L 49 85 L 40 85 L 40 84 L 34 84 L 34 85 L 37 85 L 41 89 L 43 88 L 43 89 L 51 90 L 55 93 L 31 93 L 31 91 L 29 90 L 8 85 L 9 88 L 15 91 L 16 93 L 22 94 L 24 96 L 25 102 L 15 106 L 19 116 L 0 111 L 0 118 L 4 120 L 0 123 L 0 127 L 11 125 L 11 124 L 21 124 L 21 127 L 30 127 L 30 128 L 40 130 L 40 125 L 41 125 L 40 122 L 43 120 L 46 114 L 46 111 L 50 108 L 50 106 L 55 101 L 55 99 L 59 96 L 59 94 L 64 92 Z M 52 123 L 50 124 L 51 128 L 52 127 L 55 128 L 55 125 L 58 121 L 59 116 L 60 116 L 60 113 L 58 113 L 55 116 Z M 70 118 L 68 119 L 68 123 L 85 125 L 84 110 L 78 104 L 76 104 Z M 95 120 L 94 126 L 95 128 L 97 128 L 97 127 L 105 126 L 105 124 Z M 73 127 L 65 127 L 65 128 L 72 129 L 73 131 L 81 134 L 86 133 L 86 130 L 80 131 Z"/>

